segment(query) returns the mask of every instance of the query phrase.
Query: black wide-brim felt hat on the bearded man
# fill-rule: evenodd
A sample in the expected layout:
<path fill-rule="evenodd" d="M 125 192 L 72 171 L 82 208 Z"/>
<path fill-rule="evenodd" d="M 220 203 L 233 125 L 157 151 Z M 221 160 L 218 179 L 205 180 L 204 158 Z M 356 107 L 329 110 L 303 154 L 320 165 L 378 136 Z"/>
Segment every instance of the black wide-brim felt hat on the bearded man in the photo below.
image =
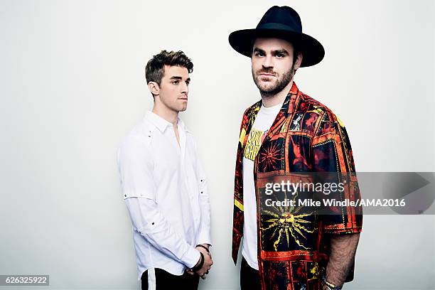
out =
<path fill-rule="evenodd" d="M 238 53 L 250 58 L 256 38 L 281 38 L 289 41 L 303 55 L 301 67 L 316 65 L 325 56 L 323 45 L 316 38 L 302 33 L 301 18 L 289 6 L 273 6 L 264 14 L 257 28 L 234 31 L 228 41 Z"/>

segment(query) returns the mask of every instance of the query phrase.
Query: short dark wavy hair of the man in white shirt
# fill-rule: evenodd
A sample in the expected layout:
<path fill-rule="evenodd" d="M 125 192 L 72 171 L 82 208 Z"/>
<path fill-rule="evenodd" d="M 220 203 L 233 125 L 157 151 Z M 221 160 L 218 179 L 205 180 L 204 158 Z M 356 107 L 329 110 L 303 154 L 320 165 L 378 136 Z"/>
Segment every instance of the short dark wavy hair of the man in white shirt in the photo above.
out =
<path fill-rule="evenodd" d="M 156 54 L 151 58 L 151 60 L 146 63 L 145 67 L 145 78 L 146 83 L 149 82 L 157 82 L 159 85 L 161 84 L 161 78 L 164 73 L 165 65 L 177 65 L 183 68 L 187 68 L 189 73 L 193 72 L 193 63 L 190 58 L 187 57 L 183 53 L 183 51 L 166 51 L 161 50 L 159 54 Z"/>

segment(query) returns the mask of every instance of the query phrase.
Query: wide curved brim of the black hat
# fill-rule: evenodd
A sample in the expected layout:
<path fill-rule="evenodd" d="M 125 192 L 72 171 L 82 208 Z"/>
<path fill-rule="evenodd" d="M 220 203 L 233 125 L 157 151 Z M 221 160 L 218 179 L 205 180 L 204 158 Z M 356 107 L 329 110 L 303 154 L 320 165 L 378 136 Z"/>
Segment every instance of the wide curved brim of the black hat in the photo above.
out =
<path fill-rule="evenodd" d="M 252 43 L 256 38 L 281 38 L 293 43 L 303 55 L 301 68 L 316 65 L 325 56 L 325 49 L 316 38 L 284 29 L 255 28 L 234 31 L 228 37 L 228 41 L 238 53 L 250 58 L 252 56 Z"/>

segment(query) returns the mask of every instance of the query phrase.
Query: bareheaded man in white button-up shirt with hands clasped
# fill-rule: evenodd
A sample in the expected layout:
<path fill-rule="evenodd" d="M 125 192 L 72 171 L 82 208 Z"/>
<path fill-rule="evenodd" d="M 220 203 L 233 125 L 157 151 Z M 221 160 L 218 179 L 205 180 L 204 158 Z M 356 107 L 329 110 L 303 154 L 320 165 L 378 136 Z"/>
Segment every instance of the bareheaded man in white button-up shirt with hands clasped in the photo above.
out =
<path fill-rule="evenodd" d="M 198 289 L 213 264 L 206 179 L 193 135 L 178 118 L 192 71 L 182 51 L 162 50 L 149 60 L 154 107 L 117 151 L 142 289 Z"/>

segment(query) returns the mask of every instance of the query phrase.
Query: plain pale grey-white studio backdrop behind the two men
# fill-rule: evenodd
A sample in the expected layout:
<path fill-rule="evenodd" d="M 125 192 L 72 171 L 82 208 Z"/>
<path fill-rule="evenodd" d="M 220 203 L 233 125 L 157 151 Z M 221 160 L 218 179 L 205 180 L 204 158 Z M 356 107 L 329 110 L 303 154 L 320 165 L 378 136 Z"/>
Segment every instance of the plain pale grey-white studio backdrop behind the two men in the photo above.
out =
<path fill-rule="evenodd" d="M 227 36 L 273 4 L 293 6 L 325 46 L 295 80 L 343 120 L 357 170 L 435 171 L 434 1 L 0 4 L 0 274 L 49 274 L 48 289 L 139 289 L 115 152 L 151 109 L 144 66 L 165 48 L 195 65 L 182 117 L 208 173 L 215 259 L 200 289 L 238 289 L 235 150 L 259 94 Z M 366 215 L 345 288 L 435 289 L 434 232 L 434 215 Z"/>

